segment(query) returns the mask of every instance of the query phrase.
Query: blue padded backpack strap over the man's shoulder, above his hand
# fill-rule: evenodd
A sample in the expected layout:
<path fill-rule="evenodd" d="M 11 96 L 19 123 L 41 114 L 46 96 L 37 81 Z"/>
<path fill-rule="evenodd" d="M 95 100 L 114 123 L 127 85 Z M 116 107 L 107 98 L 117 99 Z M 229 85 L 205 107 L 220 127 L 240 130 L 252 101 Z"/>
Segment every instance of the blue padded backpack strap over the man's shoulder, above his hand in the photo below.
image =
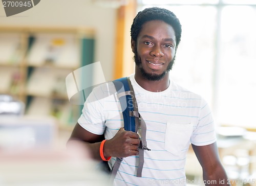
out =
<path fill-rule="evenodd" d="M 133 97 L 130 94 L 127 77 L 116 79 L 113 83 L 123 112 L 124 130 L 135 132 L 135 118 L 130 116 L 130 112 L 134 110 Z"/>

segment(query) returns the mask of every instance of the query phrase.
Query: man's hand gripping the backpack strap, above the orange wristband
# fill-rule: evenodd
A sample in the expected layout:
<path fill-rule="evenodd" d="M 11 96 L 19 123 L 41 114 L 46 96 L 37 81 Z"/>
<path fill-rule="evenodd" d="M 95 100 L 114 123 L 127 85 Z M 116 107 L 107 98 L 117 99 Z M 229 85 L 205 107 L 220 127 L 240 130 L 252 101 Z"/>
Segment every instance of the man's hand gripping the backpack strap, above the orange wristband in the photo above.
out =
<path fill-rule="evenodd" d="M 139 154 L 139 135 L 120 128 L 116 135 L 105 142 L 103 154 L 105 157 L 127 157 Z"/>

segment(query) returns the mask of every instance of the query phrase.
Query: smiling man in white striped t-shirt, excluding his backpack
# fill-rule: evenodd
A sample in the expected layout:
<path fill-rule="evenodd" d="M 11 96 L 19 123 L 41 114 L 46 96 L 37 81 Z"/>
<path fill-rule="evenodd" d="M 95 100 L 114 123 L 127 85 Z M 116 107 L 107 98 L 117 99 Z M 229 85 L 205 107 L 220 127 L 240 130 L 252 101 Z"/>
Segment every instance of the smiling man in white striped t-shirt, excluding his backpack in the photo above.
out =
<path fill-rule="evenodd" d="M 129 78 L 151 149 L 144 151 L 142 176 L 136 177 L 141 129 L 138 133 L 125 131 L 115 96 L 102 96 L 113 88 L 112 83 L 93 90 L 70 141 L 82 141 L 95 159 L 110 159 L 110 168 L 116 157 L 124 157 L 114 185 L 186 185 L 185 159 L 190 143 L 206 185 L 228 185 L 207 103 L 169 78 L 181 38 L 179 19 L 166 9 L 145 9 L 135 17 L 131 37 L 136 68 Z"/>

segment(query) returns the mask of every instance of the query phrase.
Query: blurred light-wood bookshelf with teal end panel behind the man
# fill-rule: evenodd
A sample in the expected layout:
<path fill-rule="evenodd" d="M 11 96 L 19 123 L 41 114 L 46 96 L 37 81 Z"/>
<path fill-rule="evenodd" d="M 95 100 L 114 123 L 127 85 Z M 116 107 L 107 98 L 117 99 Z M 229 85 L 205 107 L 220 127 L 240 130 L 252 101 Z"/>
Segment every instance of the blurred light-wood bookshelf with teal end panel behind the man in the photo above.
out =
<path fill-rule="evenodd" d="M 0 94 L 23 101 L 26 115 L 73 128 L 80 105 L 69 102 L 65 79 L 94 62 L 94 40 L 91 28 L 0 27 Z"/>

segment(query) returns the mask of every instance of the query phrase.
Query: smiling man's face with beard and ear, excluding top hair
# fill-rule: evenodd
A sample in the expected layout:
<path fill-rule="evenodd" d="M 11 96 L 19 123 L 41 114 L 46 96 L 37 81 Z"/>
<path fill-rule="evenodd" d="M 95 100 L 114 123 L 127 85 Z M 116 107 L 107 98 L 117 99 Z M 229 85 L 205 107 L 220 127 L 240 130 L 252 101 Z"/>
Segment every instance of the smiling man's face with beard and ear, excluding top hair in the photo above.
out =
<path fill-rule="evenodd" d="M 148 80 L 161 80 L 174 63 L 176 49 L 175 31 L 161 20 L 145 22 L 137 43 L 132 41 L 136 66 Z"/>

